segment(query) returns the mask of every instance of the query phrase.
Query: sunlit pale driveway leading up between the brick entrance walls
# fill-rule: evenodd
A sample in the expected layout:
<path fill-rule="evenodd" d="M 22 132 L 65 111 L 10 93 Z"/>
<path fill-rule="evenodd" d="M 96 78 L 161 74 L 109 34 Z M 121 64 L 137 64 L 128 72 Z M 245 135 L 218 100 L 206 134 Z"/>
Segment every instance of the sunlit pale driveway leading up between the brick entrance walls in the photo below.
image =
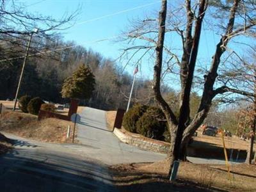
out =
<path fill-rule="evenodd" d="M 77 125 L 77 139 L 83 145 L 83 152 L 106 164 L 154 162 L 166 157 L 164 154 L 148 152 L 122 143 L 109 131 L 106 111 L 85 108 L 81 122 Z"/>

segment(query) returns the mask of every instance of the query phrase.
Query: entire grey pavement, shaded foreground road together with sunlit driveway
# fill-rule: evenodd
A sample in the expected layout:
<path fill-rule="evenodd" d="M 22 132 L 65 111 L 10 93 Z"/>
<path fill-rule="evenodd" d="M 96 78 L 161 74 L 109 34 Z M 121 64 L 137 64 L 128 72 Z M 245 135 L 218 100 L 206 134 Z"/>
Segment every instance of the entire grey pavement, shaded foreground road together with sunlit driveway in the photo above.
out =
<path fill-rule="evenodd" d="M 41 143 L 4 133 L 15 140 L 15 149 L 0 157 L 0 191 L 116 191 L 108 164 L 164 159 L 164 154 L 121 143 L 108 131 L 104 111 L 86 108 L 81 115 L 79 144 Z"/>

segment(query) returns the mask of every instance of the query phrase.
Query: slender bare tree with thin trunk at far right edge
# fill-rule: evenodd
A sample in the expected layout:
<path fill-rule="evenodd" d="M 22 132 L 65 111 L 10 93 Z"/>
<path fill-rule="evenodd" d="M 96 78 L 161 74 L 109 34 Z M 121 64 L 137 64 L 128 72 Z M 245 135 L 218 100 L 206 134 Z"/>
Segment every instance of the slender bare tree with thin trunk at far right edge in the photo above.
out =
<path fill-rule="evenodd" d="M 250 122 L 250 145 L 246 163 L 251 164 L 256 126 L 256 55 L 255 48 L 251 45 L 249 47 L 246 58 L 241 58 L 236 52 L 232 52 L 234 58 L 228 67 L 222 68 L 223 76 L 220 81 L 225 83 L 224 90 L 236 93 L 249 105 L 246 116 Z"/>

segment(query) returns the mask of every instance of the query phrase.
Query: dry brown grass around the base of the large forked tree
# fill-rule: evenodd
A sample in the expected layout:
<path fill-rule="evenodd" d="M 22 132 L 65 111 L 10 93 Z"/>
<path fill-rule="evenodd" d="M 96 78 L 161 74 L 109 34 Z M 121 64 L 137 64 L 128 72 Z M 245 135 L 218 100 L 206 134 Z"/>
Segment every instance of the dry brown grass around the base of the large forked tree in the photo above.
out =
<path fill-rule="evenodd" d="M 119 164 L 111 166 L 113 178 L 116 184 L 121 186 L 136 183 L 147 186 L 151 190 L 161 188 L 172 188 L 173 183 L 166 179 L 168 162 L 159 161 L 156 163 Z M 178 173 L 178 184 L 189 184 L 192 191 L 205 189 L 225 191 L 256 191 L 256 165 L 237 164 L 231 166 L 231 180 L 228 179 L 227 168 L 223 165 L 202 165 L 192 163 L 180 163 Z M 181 190 L 182 191 L 182 190 Z"/>

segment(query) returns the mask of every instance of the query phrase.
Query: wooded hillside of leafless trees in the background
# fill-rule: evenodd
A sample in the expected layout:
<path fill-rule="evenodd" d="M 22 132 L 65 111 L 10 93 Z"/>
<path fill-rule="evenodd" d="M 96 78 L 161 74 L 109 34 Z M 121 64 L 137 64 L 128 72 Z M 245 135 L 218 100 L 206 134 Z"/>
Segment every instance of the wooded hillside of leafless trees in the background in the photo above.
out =
<path fill-rule="evenodd" d="M 13 41 L 0 45 L 0 60 L 22 57 L 26 50 L 26 38 L 24 42 Z M 44 41 L 44 47 L 40 44 Z M 21 46 L 21 45 L 24 46 Z M 24 70 L 24 78 L 20 88 L 19 96 L 31 95 L 41 97 L 44 100 L 65 103 L 68 100 L 61 98 L 61 86 L 65 78 L 70 76 L 76 68 L 88 65 L 95 76 L 95 91 L 90 100 L 81 100 L 81 104 L 99 109 L 126 108 L 129 92 L 131 89 L 132 76 L 122 72 L 122 67 L 113 60 L 104 58 L 91 49 L 76 46 L 74 42 L 64 42 L 59 36 L 51 40 L 33 38 L 30 54 L 35 54 L 40 48 L 41 52 L 57 49 L 60 47 L 74 46 L 71 49 L 38 54 L 28 58 Z M 39 47 L 39 48 L 38 48 Z M 0 62 L 0 99 L 14 99 L 20 71 L 24 58 Z M 152 104 L 152 84 L 148 80 L 136 81 L 133 102 Z M 163 87 L 163 92 L 170 89 Z"/>

